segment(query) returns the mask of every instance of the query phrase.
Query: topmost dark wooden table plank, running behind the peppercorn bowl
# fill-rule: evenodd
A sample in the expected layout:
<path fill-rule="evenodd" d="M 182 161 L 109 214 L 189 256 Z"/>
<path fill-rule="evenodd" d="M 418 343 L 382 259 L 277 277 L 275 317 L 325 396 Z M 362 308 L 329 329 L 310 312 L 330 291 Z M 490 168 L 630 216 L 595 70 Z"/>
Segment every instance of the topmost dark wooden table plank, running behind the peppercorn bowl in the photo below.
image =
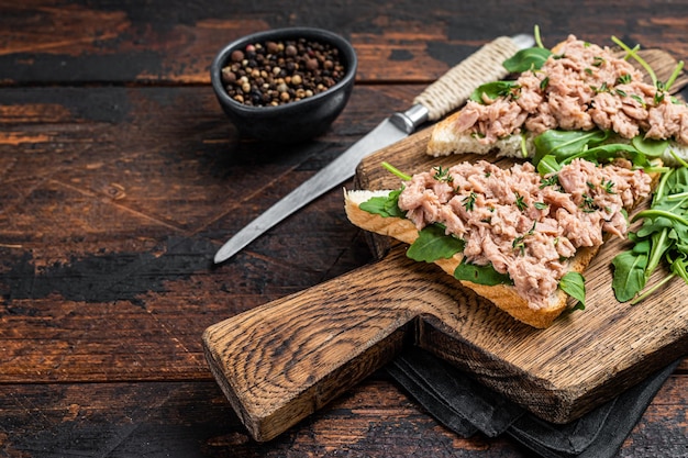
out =
<path fill-rule="evenodd" d="M 577 20 L 580 11 L 587 12 L 585 21 Z M 320 8 L 314 14 L 310 3 L 285 0 L 203 0 L 177 14 L 160 0 L 146 8 L 132 0 L 58 7 L 34 0 L 2 7 L 0 81 L 207 85 L 210 63 L 224 44 L 256 31 L 310 25 L 354 44 L 359 81 L 426 83 L 496 35 L 529 33 L 535 24 L 550 46 L 569 33 L 600 44 L 611 44 L 614 34 L 681 58 L 688 55 L 680 26 L 686 20 L 688 9 L 680 2 L 619 8 L 595 1 L 532 5 L 402 0 L 393 8 L 351 3 Z"/>

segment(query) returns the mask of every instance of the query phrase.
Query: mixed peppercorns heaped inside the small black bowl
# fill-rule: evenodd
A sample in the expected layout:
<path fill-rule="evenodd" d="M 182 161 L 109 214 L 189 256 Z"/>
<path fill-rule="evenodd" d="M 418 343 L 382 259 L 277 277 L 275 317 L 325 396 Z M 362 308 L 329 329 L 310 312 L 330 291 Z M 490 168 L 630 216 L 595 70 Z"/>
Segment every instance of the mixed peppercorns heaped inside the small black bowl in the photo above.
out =
<path fill-rule="evenodd" d="M 337 48 L 299 38 L 234 51 L 222 68 L 222 82 L 237 102 L 277 107 L 326 91 L 344 74 Z"/>

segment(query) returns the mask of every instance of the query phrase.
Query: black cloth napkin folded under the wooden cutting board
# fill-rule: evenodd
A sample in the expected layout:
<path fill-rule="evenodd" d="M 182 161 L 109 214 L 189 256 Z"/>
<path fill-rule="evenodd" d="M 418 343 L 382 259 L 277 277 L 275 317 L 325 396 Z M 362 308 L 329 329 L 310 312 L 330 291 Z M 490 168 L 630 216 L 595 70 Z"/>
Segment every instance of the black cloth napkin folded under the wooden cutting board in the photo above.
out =
<path fill-rule="evenodd" d="M 432 416 L 462 437 L 511 436 L 545 458 L 613 457 L 679 361 L 657 371 L 579 420 L 545 422 L 465 372 L 418 347 L 387 371 Z"/>

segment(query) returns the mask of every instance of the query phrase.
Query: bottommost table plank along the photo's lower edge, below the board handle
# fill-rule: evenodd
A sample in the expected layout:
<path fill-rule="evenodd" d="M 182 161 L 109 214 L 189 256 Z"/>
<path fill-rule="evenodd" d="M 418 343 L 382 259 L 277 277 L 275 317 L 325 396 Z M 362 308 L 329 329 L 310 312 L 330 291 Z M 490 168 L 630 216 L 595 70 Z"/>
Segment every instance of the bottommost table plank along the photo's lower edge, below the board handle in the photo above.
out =
<path fill-rule="evenodd" d="M 620 456 L 685 454 L 685 378 L 667 380 Z M 531 456 L 508 437 L 456 437 L 379 373 L 268 444 L 248 437 L 212 381 L 2 384 L 0 417 L 10 457 Z"/>

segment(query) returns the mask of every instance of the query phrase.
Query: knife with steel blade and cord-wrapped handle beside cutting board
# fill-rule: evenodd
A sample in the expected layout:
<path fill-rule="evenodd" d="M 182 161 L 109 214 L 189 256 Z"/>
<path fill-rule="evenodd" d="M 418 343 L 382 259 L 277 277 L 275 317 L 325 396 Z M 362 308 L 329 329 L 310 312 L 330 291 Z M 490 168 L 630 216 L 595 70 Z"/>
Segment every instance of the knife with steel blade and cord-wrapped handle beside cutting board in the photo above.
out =
<path fill-rule="evenodd" d="M 364 157 L 407 137 L 428 121 L 440 120 L 460 107 L 478 86 L 506 77 L 508 71 L 502 63 L 519 49 L 531 47 L 534 43 L 531 35 L 520 34 L 512 37 L 501 36 L 484 45 L 430 85 L 413 100 L 410 109 L 387 118 L 322 170 L 237 232 L 218 250 L 214 262 L 228 260 L 291 213 L 353 177 Z"/>

